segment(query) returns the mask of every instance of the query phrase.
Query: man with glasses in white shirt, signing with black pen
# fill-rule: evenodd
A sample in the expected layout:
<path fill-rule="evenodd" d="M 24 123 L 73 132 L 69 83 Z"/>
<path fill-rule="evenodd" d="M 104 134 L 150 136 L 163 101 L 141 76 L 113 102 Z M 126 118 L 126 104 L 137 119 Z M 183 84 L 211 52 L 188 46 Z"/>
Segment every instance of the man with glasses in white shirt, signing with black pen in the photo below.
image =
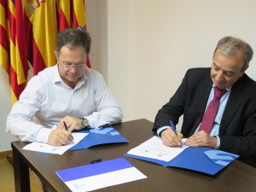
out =
<path fill-rule="evenodd" d="M 102 75 L 85 67 L 89 53 L 87 32 L 76 28 L 59 32 L 57 64 L 28 82 L 9 113 L 7 132 L 21 141 L 61 146 L 73 140 L 74 129 L 121 122 L 122 110 Z"/>

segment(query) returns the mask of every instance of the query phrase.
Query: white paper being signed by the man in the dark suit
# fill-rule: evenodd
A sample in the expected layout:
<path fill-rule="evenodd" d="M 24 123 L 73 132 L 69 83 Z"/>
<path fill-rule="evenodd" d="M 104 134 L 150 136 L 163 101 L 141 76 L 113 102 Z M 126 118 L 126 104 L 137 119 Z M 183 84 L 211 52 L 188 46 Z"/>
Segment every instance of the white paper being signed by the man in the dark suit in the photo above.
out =
<path fill-rule="evenodd" d="M 136 148 L 132 148 L 127 154 L 133 154 L 137 156 L 143 156 L 152 158 L 155 160 L 164 160 L 169 162 L 170 160 L 174 159 L 178 154 L 182 153 L 186 146 L 185 143 L 186 139 L 182 140 L 182 147 L 167 147 L 164 145 L 160 139 L 160 137 L 151 137 L 148 141 L 140 144 Z"/>

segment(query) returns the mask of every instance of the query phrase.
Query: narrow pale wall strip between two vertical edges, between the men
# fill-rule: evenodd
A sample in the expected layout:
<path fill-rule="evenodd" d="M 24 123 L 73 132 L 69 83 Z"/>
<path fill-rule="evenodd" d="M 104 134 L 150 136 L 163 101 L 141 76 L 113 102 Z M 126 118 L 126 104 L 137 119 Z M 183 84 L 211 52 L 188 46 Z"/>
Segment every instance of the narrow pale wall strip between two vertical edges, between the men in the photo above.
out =
<path fill-rule="evenodd" d="M 101 1 L 100 1 L 101 2 Z M 129 119 L 129 1 L 108 0 L 108 87 Z"/>

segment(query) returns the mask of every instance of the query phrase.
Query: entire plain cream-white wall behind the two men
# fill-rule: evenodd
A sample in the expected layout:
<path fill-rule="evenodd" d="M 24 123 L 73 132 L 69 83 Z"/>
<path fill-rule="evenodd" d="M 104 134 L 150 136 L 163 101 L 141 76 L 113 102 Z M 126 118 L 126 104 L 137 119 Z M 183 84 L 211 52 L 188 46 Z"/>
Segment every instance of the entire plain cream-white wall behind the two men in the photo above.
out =
<path fill-rule="evenodd" d="M 91 64 L 117 97 L 125 120 L 154 121 L 189 67 L 211 65 L 219 38 L 242 38 L 256 52 L 255 7 L 253 0 L 86 0 Z M 256 79 L 255 73 L 254 58 L 247 74 Z M 7 84 L 0 69 L 0 151 L 9 150 L 13 139 L 4 131 Z"/>

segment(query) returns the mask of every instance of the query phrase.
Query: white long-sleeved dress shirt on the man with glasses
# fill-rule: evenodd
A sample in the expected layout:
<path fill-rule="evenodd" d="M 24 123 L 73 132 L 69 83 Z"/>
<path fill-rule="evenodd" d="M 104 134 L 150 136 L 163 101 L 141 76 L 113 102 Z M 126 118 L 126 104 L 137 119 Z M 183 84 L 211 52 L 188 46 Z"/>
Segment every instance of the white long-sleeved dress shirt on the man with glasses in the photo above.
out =
<path fill-rule="evenodd" d="M 58 65 L 34 76 L 7 118 L 7 132 L 21 141 L 47 143 L 50 129 L 65 116 L 86 118 L 92 128 L 119 123 L 122 110 L 100 73 L 87 68 L 75 88 L 65 84 Z"/>

